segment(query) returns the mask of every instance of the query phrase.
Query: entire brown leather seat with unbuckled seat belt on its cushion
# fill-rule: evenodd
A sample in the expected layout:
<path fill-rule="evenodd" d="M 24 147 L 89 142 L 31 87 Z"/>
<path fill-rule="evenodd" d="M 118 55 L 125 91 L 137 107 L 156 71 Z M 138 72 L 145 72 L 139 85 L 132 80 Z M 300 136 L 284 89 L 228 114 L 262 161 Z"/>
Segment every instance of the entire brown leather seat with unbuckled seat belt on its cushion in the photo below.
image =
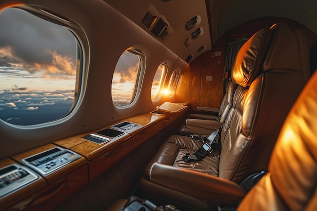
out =
<path fill-rule="evenodd" d="M 283 122 L 309 78 L 305 37 L 285 24 L 264 28 L 241 48 L 232 69 L 239 84 L 221 132 L 220 156 L 184 162 L 201 144 L 171 136 L 144 168 L 140 187 L 158 203 L 185 210 L 232 204 L 248 175 L 268 168 Z"/>

